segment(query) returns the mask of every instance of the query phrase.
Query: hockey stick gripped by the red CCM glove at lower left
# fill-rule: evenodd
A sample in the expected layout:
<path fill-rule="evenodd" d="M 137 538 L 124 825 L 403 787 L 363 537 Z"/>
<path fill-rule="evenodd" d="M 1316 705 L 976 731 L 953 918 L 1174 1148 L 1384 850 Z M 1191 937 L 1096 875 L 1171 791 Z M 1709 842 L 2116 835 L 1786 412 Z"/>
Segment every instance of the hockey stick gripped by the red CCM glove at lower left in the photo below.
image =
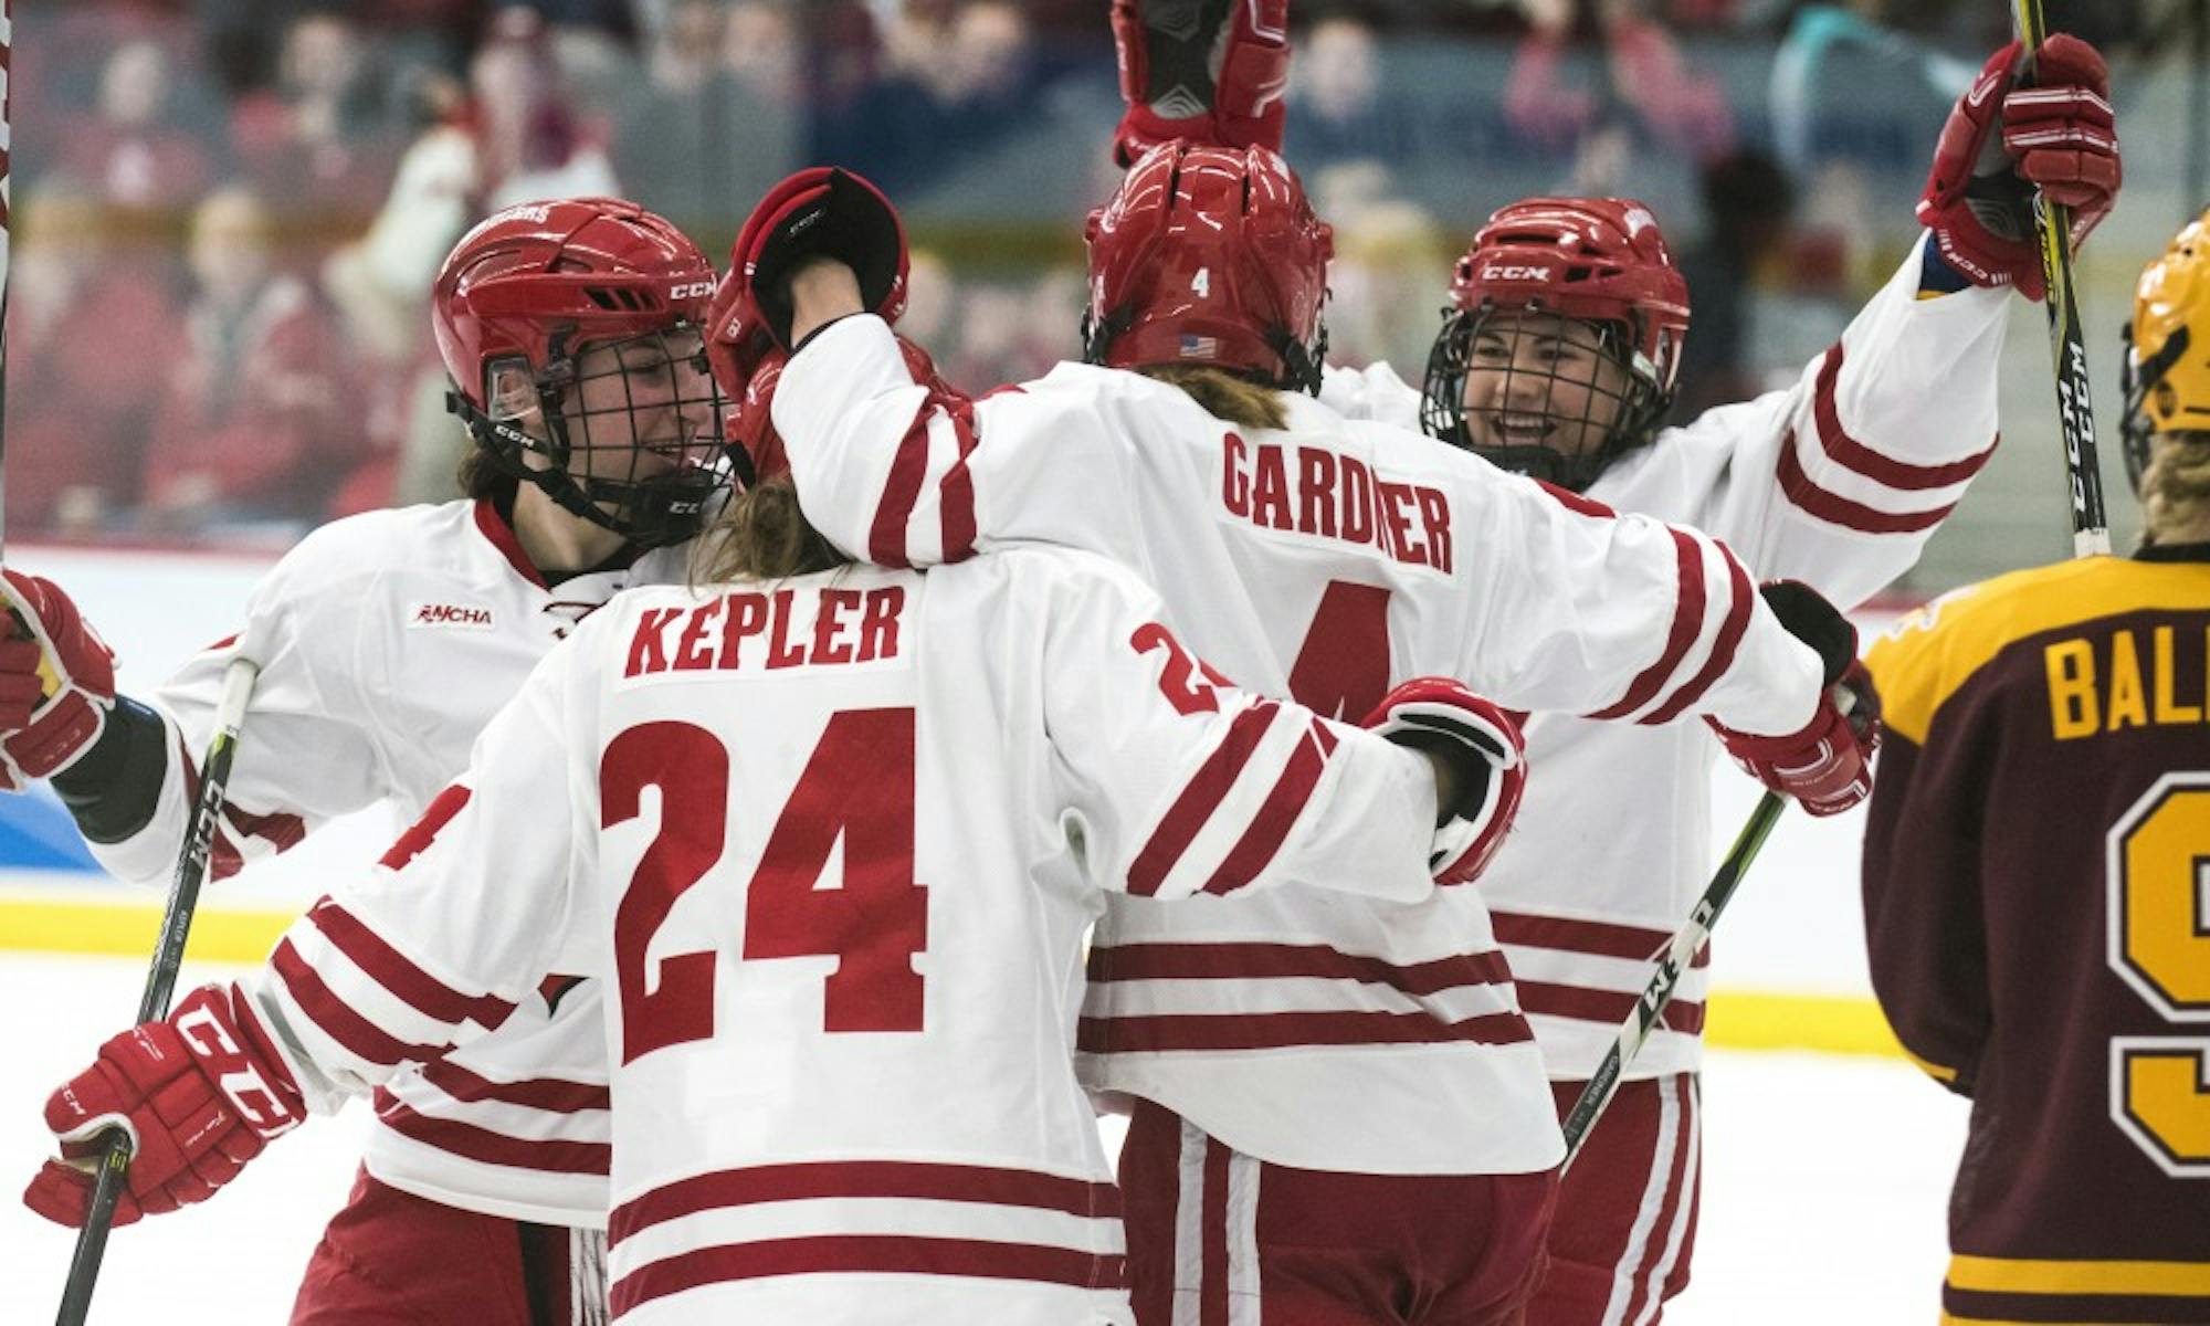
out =
<path fill-rule="evenodd" d="M 208 877 L 208 857 L 214 851 L 214 822 L 223 813 L 223 789 L 230 782 L 230 760 L 239 751 L 239 725 L 245 720 L 245 703 L 254 694 L 254 678 L 261 665 L 252 659 L 234 659 L 223 672 L 223 698 L 214 707 L 214 736 L 208 738 L 208 758 L 199 765 L 199 802 L 183 835 L 183 851 L 177 855 L 177 875 L 168 886 L 168 906 L 161 911 L 161 939 L 152 950 L 152 970 L 146 975 L 146 994 L 139 997 L 137 1021 L 148 1023 L 168 1017 L 168 999 L 177 988 L 177 968 L 183 966 L 183 941 L 192 933 L 192 911 L 199 908 L 199 886 Z M 124 1174 L 130 1171 L 130 1138 L 122 1129 L 106 1134 L 99 1151 L 93 1204 L 84 1213 L 84 1229 L 77 1231 L 77 1251 L 69 1257 L 69 1282 L 62 1286 L 62 1311 L 55 1326 L 84 1326 L 84 1313 L 93 1306 L 93 1280 L 99 1275 L 99 1257 L 108 1249 L 108 1224 L 115 1220 L 115 1200 L 122 1196 Z"/>

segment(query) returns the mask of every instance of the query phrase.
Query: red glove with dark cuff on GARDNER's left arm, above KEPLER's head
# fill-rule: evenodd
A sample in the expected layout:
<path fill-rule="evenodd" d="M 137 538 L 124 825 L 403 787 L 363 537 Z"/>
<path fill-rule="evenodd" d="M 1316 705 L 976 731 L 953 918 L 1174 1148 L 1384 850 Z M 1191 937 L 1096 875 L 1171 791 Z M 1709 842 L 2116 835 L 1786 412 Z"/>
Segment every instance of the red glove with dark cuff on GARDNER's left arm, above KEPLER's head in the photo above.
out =
<path fill-rule="evenodd" d="M 860 276 L 860 301 L 884 323 L 906 312 L 906 225 L 897 208 L 866 179 L 813 166 L 767 190 L 745 219 L 725 290 L 716 292 L 714 338 L 743 351 L 758 329 L 791 349 L 791 274 L 813 256 L 849 265 Z"/>

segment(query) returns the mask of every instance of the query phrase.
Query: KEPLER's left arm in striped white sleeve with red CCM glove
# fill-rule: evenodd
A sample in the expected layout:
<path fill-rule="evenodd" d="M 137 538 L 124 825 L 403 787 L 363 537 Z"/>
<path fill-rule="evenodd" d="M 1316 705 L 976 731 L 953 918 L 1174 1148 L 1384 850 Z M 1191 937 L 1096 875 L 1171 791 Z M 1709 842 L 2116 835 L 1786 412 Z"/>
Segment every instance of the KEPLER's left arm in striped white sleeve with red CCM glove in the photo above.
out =
<path fill-rule="evenodd" d="M 365 880 L 294 922 L 259 972 L 113 1036 L 49 1096 L 64 1160 L 24 1204 L 82 1224 L 93 1182 L 69 1160 L 97 1156 L 110 1127 L 133 1140 L 115 1224 L 201 1202 L 307 1114 L 506 1021 L 570 933 L 568 654 L 539 665 L 469 774 Z"/>

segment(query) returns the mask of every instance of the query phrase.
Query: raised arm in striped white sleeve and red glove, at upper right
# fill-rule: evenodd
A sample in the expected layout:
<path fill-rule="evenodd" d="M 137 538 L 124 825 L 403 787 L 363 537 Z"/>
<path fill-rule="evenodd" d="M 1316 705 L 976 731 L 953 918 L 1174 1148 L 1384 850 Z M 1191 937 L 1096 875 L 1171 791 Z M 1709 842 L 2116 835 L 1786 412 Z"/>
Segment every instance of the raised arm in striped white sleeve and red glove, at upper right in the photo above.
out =
<path fill-rule="evenodd" d="M 2044 42 L 2035 86 L 1998 51 L 1949 113 L 1909 261 L 1814 358 L 1783 400 L 1691 424 L 1744 438 L 1711 517 L 1764 575 L 1803 579 L 1843 608 L 1907 570 L 1996 451 L 2004 290 L 2040 298 L 2031 192 L 2077 206 L 2084 236 L 2122 179 L 2102 55 Z M 1777 409 L 1775 409 L 1777 404 Z"/>

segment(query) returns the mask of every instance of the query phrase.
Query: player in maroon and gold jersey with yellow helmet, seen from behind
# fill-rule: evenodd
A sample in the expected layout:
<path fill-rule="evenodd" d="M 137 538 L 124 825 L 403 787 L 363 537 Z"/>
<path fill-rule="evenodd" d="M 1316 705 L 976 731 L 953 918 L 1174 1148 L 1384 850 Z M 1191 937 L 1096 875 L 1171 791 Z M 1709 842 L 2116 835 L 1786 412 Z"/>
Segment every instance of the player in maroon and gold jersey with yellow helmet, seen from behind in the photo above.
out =
<path fill-rule="evenodd" d="M 2210 1322 L 2210 212 L 2128 327 L 2133 557 L 1876 641 L 1872 988 L 1971 1098 L 1943 1322 Z"/>

